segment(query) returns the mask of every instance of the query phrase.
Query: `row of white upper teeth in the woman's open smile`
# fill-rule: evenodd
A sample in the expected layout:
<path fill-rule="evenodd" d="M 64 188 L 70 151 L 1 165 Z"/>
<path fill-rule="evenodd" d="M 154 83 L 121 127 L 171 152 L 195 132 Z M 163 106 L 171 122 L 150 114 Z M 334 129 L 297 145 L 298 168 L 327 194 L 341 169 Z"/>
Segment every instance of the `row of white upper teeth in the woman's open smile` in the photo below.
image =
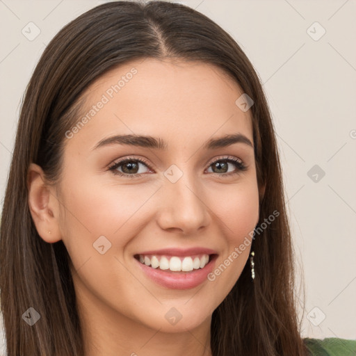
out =
<path fill-rule="evenodd" d="M 170 259 L 165 256 L 144 256 L 140 254 L 138 259 L 141 264 L 151 266 L 152 268 L 159 268 L 161 270 L 172 270 L 173 272 L 190 272 L 204 268 L 209 262 L 209 254 L 201 254 L 199 257 L 176 257 L 172 256 Z"/>

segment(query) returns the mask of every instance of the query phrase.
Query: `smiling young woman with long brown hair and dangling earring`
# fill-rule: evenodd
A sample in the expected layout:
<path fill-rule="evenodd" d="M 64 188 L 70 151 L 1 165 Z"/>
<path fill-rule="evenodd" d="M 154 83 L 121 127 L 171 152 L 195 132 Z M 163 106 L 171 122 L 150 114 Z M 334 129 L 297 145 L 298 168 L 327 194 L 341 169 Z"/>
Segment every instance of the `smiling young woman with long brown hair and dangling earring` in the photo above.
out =
<path fill-rule="evenodd" d="M 257 74 L 223 29 L 175 3 L 98 6 L 45 49 L 0 267 L 9 356 L 326 355 L 335 341 L 300 337 Z"/>

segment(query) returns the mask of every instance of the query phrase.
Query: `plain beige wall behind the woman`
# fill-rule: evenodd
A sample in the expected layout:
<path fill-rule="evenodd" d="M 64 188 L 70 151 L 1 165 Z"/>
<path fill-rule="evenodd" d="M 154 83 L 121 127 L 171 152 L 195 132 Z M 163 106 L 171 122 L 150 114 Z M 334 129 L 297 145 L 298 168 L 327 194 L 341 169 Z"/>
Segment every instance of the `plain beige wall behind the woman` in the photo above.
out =
<path fill-rule="evenodd" d="M 180 2 L 223 26 L 264 83 L 297 269 L 305 273 L 302 334 L 356 339 L 356 1 Z M 31 72 L 55 33 L 99 3 L 104 1 L 0 1 L 1 207 Z"/>

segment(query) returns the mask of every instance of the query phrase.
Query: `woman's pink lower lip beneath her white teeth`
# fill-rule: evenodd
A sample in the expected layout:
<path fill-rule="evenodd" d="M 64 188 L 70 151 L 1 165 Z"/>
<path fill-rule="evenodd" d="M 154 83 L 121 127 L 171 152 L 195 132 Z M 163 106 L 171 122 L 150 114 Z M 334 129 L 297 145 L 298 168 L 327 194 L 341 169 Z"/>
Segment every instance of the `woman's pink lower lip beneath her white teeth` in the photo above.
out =
<path fill-rule="evenodd" d="M 159 268 L 152 268 L 141 264 L 140 261 L 135 259 L 140 266 L 141 270 L 151 280 L 169 289 L 192 289 L 199 286 L 207 280 L 209 273 L 213 270 L 217 255 L 214 254 L 209 263 L 198 270 L 191 272 L 172 272 L 171 270 L 160 270 Z"/>

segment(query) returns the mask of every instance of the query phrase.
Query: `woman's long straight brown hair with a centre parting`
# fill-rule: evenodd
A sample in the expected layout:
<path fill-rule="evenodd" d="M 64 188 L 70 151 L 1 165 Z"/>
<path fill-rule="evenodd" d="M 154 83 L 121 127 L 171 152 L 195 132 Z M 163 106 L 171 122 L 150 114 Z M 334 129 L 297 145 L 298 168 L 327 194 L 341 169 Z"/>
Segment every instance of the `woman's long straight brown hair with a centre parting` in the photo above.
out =
<path fill-rule="evenodd" d="M 46 243 L 35 229 L 27 202 L 29 164 L 40 165 L 49 181 L 60 181 L 65 131 L 78 120 L 83 91 L 115 66 L 168 57 L 216 65 L 253 99 L 257 182 L 265 186 L 258 225 L 279 212 L 253 240 L 254 282 L 246 264 L 213 312 L 213 356 L 306 354 L 280 159 L 266 97 L 250 60 L 229 34 L 192 8 L 165 1 L 115 1 L 61 29 L 26 89 L 1 217 L 1 309 L 9 356 L 83 356 L 70 257 L 62 241 Z M 41 316 L 31 327 L 22 320 L 29 307 Z"/>

